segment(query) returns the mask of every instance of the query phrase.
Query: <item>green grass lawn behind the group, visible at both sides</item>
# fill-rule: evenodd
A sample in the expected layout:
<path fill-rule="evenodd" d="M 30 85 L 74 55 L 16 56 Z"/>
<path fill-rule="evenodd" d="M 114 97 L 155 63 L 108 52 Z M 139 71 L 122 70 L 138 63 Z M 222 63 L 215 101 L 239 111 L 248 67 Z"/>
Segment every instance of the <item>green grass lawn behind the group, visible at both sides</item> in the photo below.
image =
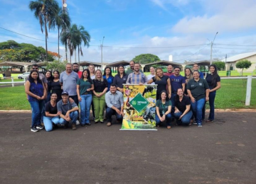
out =
<path fill-rule="evenodd" d="M 216 109 L 256 109 L 256 79 L 252 79 L 250 106 L 245 106 L 247 79 L 223 79 L 215 97 Z M 24 86 L 0 88 L 0 110 L 30 110 Z M 208 104 L 206 105 L 208 108 Z"/>

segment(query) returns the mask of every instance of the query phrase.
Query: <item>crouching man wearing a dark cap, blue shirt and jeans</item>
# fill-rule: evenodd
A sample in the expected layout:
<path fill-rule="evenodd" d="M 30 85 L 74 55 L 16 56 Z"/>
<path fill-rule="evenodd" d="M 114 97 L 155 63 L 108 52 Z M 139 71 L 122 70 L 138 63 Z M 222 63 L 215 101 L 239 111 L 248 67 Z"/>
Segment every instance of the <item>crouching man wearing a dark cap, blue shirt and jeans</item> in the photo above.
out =
<path fill-rule="evenodd" d="M 78 105 L 70 103 L 67 91 L 61 93 L 61 98 L 63 99 L 57 103 L 58 113 L 60 113 L 60 125 L 68 127 L 68 123 L 72 120 L 72 130 L 76 130 L 75 123 L 78 120 Z"/>

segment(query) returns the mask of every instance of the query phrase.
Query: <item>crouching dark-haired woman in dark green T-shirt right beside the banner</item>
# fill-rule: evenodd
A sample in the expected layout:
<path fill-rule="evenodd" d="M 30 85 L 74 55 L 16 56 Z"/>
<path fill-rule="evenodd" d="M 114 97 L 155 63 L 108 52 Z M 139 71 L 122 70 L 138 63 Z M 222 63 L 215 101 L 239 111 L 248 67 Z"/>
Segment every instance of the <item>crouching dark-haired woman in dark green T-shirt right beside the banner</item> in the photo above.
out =
<path fill-rule="evenodd" d="M 166 120 L 167 129 L 171 129 L 171 100 L 167 100 L 166 91 L 161 91 L 159 100 L 156 100 L 156 125 Z"/>

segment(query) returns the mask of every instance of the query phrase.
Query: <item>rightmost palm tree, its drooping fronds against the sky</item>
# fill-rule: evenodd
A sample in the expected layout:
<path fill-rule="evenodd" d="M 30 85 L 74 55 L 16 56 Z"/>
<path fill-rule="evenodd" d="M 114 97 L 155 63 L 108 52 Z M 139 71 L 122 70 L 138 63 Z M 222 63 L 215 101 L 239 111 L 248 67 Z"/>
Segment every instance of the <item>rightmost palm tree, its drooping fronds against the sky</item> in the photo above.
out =
<path fill-rule="evenodd" d="M 84 46 L 87 45 L 87 47 L 89 47 L 89 42 L 90 42 L 90 34 L 87 32 L 87 30 L 85 30 L 85 28 L 80 25 L 78 27 L 78 62 L 80 64 L 80 56 L 79 53 L 81 53 L 82 55 L 82 42 L 84 43 Z"/>

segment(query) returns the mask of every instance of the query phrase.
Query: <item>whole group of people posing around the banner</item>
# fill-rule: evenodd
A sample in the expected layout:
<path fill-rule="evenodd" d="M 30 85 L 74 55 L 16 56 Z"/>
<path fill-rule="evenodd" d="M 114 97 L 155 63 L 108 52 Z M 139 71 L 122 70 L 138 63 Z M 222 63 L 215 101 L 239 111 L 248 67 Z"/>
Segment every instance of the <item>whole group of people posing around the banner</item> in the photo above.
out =
<path fill-rule="evenodd" d="M 203 79 L 198 71 L 198 64 L 193 64 L 193 72 L 186 68 L 185 76 L 181 76 L 180 68 L 169 65 L 167 73 L 161 68 L 150 68 L 146 76 L 140 65 L 131 61 L 130 69 L 124 71 L 119 65 L 117 75 L 112 76 L 110 67 L 104 73 L 90 64 L 87 69 L 79 71 L 77 63 L 66 64 L 65 71 L 46 71 L 46 75 L 38 73 L 38 65 L 33 64 L 31 74 L 25 84 L 28 102 L 32 109 L 31 131 L 43 129 L 53 130 L 60 124 L 68 127 L 72 122 L 72 130 L 76 125 L 90 124 L 90 108 L 95 123 L 112 125 L 112 115 L 117 122 L 124 116 L 123 84 L 157 84 L 156 90 L 156 125 L 166 121 L 168 129 L 176 118 L 177 125 L 191 125 L 193 120 L 202 126 L 206 101 L 210 103 L 208 122 L 214 120 L 215 91 L 220 88 L 220 76 L 214 64 L 210 65 L 210 74 Z M 80 113 L 78 105 L 80 105 Z M 104 112 L 105 116 L 104 116 Z M 80 117 L 80 119 L 79 119 Z"/>

